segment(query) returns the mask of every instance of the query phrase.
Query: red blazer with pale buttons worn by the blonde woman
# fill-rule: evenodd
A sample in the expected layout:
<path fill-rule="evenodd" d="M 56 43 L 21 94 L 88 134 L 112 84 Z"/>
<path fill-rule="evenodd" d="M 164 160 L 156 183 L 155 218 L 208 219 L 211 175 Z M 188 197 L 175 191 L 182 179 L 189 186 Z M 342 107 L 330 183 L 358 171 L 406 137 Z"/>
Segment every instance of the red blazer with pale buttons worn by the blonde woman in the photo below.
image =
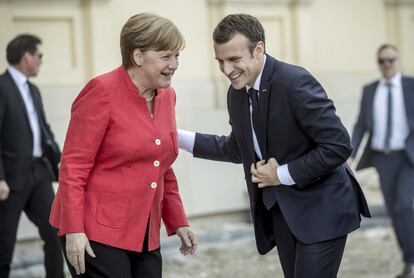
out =
<path fill-rule="evenodd" d="M 158 89 L 154 116 L 123 66 L 89 81 L 72 105 L 50 223 L 59 235 L 141 251 L 188 226 L 171 164 L 178 155 L 175 92 Z"/>

